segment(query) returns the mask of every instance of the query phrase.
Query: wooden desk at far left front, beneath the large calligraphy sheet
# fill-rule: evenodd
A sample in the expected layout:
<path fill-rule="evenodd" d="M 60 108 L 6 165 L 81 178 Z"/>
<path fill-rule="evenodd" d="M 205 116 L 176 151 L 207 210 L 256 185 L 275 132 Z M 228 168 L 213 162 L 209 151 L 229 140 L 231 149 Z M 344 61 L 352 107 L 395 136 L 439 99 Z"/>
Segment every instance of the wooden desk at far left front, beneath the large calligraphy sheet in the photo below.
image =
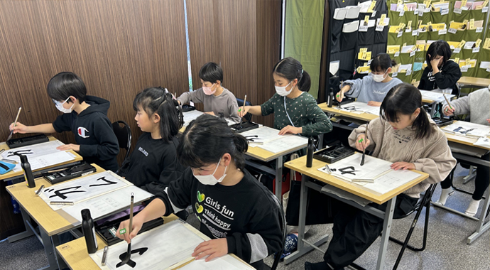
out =
<path fill-rule="evenodd" d="M 92 164 L 92 166 L 97 168 L 95 173 L 105 171 L 103 168 L 100 168 L 95 164 Z M 74 178 L 72 180 L 75 179 L 78 178 Z M 75 226 L 65 220 L 65 218 L 61 217 L 58 212 L 53 211 L 53 209 L 51 209 L 51 207 L 49 207 L 49 205 L 46 204 L 43 199 L 36 195 L 36 191 L 41 185 L 44 185 L 45 188 L 51 186 L 51 184 L 44 178 L 37 178 L 36 188 L 28 188 L 26 183 L 23 182 L 6 187 L 6 190 L 21 206 L 22 219 L 24 225 L 26 226 L 26 232 L 12 235 L 8 239 L 9 242 L 15 242 L 32 235 L 36 235 L 36 237 L 38 237 L 40 242 L 43 244 L 46 257 L 48 257 L 49 266 L 46 269 L 54 270 L 58 269 L 55 252 L 53 252 L 54 247 L 60 244 L 58 234 L 61 232 L 67 232 L 68 230 L 75 228 Z M 31 225 L 31 218 L 39 225 L 39 234 L 34 229 L 34 226 Z M 60 268 L 62 268 L 62 265 L 60 265 Z"/>

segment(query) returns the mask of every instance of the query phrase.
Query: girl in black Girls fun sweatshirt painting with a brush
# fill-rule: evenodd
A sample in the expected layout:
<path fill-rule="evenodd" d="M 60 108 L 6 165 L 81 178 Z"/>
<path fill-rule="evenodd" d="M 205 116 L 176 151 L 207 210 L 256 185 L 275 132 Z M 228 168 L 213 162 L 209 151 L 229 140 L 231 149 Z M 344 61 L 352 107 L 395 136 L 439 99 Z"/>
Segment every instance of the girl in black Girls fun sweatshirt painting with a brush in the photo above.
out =
<path fill-rule="evenodd" d="M 143 222 L 192 205 L 201 232 L 212 239 L 195 248 L 195 259 L 233 253 L 262 269 L 263 258 L 281 249 L 281 218 L 276 197 L 244 169 L 247 147 L 219 117 L 203 114 L 191 121 L 177 151 L 190 168 L 134 217 L 131 234 L 119 234 L 129 227 L 129 220 L 121 222 L 117 237 L 129 242 Z"/>

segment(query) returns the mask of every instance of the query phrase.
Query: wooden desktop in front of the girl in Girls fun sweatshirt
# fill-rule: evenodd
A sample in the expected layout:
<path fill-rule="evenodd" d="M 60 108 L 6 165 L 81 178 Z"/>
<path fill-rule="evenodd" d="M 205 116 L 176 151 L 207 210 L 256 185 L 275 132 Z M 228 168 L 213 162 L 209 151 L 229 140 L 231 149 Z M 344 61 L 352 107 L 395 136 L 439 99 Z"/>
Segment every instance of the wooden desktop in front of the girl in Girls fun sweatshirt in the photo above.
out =
<path fill-rule="evenodd" d="M 175 215 L 170 215 L 168 217 L 162 217 L 162 218 L 164 220 L 164 225 L 162 226 L 165 226 L 165 224 L 167 224 L 170 221 L 178 219 L 178 217 Z M 203 239 L 209 240 L 209 237 L 207 237 L 205 234 L 202 234 L 202 232 L 194 228 L 192 229 L 193 232 L 195 232 L 195 234 L 199 235 Z M 97 244 L 98 244 L 97 250 L 104 249 L 105 243 L 102 240 L 102 238 L 99 237 L 99 235 L 97 235 Z M 87 253 L 87 245 L 85 244 L 85 237 L 80 237 L 79 239 L 75 239 L 71 242 L 68 242 L 67 244 L 62 244 L 56 247 L 56 249 L 58 250 L 58 253 L 61 255 L 62 259 L 65 260 L 67 265 L 70 266 L 70 269 L 72 270 L 99 269 L 99 266 L 95 264 L 94 260 L 90 258 L 89 254 Z M 235 259 L 239 259 L 234 254 L 232 254 L 232 257 L 234 257 Z M 186 264 L 189 264 L 191 261 L 182 261 L 179 264 L 176 264 L 175 266 L 171 267 L 170 269 L 180 269 Z M 239 261 L 246 264 L 241 259 L 239 259 Z M 248 264 L 246 265 L 248 266 Z"/>

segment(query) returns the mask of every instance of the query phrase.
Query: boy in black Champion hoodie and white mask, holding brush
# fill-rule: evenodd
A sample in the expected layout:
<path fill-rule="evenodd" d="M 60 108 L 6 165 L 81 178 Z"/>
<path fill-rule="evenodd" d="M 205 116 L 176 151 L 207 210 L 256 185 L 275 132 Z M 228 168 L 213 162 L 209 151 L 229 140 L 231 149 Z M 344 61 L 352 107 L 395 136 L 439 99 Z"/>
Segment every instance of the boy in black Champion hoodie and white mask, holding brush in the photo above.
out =
<path fill-rule="evenodd" d="M 72 131 L 77 144 L 58 147 L 74 150 L 88 163 L 97 163 L 105 170 L 117 171 L 116 155 L 119 144 L 107 118 L 110 102 L 100 97 L 87 96 L 87 88 L 72 72 L 60 72 L 48 82 L 48 95 L 56 108 L 63 112 L 53 124 L 25 126 L 17 122 L 11 126 L 14 133 L 55 133 Z"/>

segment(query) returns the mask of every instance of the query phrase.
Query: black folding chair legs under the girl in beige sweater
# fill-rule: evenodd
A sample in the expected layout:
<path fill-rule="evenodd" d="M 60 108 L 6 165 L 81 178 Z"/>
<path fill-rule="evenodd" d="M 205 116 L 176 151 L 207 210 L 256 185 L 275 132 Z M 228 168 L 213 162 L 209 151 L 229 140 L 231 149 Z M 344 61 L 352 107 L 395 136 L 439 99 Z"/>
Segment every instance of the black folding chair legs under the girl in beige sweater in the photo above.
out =
<path fill-rule="evenodd" d="M 429 228 L 429 215 L 430 215 L 430 200 L 432 199 L 432 194 L 434 193 L 435 187 L 437 184 L 432 184 L 429 186 L 428 190 L 425 190 L 425 194 L 422 199 L 418 200 L 417 205 L 415 205 L 415 208 L 408 212 L 407 215 L 404 217 L 408 217 L 408 215 L 411 215 L 413 212 L 416 212 L 415 218 L 413 219 L 412 225 L 410 225 L 410 229 L 408 230 L 408 234 L 405 237 L 405 242 L 401 242 L 400 240 L 390 237 L 390 240 L 397 243 L 401 244 L 401 250 L 400 253 L 398 254 L 398 257 L 396 258 L 395 265 L 393 266 L 393 269 L 398 268 L 398 264 L 400 264 L 401 257 L 403 256 L 403 252 L 405 252 L 405 248 L 408 248 L 410 250 L 413 250 L 414 252 L 421 252 L 425 249 L 425 246 L 427 245 L 427 234 L 428 234 L 428 228 Z M 413 247 L 410 244 L 408 244 L 408 241 L 410 240 L 410 237 L 412 236 L 413 229 L 415 229 L 415 225 L 417 225 L 418 217 L 420 217 L 420 213 L 423 210 L 423 207 L 425 207 L 425 223 L 424 223 L 424 237 L 423 237 L 423 244 L 422 247 L 417 248 Z M 403 217 L 401 217 L 403 218 Z"/>

